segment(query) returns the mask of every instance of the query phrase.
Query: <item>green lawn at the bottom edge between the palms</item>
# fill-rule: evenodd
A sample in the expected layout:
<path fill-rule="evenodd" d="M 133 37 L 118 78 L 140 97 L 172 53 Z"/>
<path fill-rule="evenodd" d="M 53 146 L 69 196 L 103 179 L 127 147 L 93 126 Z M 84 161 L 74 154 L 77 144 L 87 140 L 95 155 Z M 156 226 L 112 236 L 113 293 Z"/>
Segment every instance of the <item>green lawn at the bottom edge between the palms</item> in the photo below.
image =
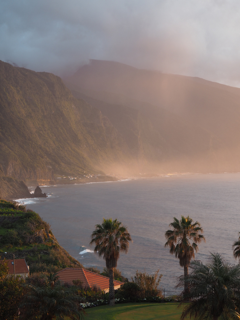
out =
<path fill-rule="evenodd" d="M 86 320 L 179 320 L 181 310 L 175 303 L 123 303 L 115 307 L 87 309 Z"/>

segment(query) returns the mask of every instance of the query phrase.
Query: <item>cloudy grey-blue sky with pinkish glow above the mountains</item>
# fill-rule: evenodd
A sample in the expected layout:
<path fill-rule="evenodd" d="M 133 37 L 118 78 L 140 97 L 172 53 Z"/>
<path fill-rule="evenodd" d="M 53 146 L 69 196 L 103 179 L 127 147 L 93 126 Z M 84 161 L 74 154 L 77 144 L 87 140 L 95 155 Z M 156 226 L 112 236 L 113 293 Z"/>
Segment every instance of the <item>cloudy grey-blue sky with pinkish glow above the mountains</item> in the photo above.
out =
<path fill-rule="evenodd" d="M 0 0 L 0 60 L 68 76 L 89 59 L 240 87 L 239 0 Z"/>

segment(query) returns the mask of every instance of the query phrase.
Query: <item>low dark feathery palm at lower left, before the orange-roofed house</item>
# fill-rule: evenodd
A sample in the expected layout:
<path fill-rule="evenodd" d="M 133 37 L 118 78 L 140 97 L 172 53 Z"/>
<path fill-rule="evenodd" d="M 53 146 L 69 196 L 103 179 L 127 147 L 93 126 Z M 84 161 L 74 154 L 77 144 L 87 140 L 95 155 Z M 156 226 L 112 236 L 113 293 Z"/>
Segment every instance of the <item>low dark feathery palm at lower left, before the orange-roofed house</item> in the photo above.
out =
<path fill-rule="evenodd" d="M 83 319 L 76 287 L 62 286 L 54 275 L 44 276 L 40 284 L 28 284 L 28 292 L 20 304 L 20 319 Z"/>

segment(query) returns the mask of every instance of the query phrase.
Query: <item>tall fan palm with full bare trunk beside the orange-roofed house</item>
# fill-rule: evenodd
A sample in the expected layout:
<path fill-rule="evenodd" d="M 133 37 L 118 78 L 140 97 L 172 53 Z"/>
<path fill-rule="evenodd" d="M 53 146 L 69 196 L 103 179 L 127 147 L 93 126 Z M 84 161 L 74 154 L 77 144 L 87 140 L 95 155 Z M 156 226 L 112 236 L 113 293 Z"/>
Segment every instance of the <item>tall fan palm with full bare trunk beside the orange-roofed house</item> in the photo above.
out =
<path fill-rule="evenodd" d="M 114 268 L 120 252 L 127 253 L 129 241 L 132 238 L 127 227 L 122 222 L 103 218 L 102 224 L 95 225 L 91 235 L 90 245 L 95 244 L 94 252 L 106 261 L 106 268 L 109 273 L 109 305 L 115 305 L 114 300 Z"/>

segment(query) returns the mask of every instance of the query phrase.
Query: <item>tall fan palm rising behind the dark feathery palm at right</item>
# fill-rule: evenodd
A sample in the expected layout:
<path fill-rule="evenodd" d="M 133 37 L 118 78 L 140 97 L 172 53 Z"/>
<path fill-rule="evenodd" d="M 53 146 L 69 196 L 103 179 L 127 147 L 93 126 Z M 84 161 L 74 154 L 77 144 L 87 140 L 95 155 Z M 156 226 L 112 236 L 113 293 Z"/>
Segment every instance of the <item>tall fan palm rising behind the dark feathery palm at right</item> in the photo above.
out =
<path fill-rule="evenodd" d="M 200 233 L 203 233 L 203 229 L 199 222 L 193 223 L 193 220 L 181 216 L 181 220 L 173 218 L 173 222 L 170 223 L 170 227 L 173 230 L 167 230 L 165 232 L 165 238 L 167 242 L 164 247 L 170 248 L 170 253 L 175 254 L 175 257 L 179 259 L 180 266 L 184 268 L 184 277 L 188 276 L 188 266 L 192 258 L 195 258 L 194 251 L 198 251 L 198 243 L 205 242 L 205 238 Z M 185 285 L 185 291 L 188 290 L 187 284 Z"/>

